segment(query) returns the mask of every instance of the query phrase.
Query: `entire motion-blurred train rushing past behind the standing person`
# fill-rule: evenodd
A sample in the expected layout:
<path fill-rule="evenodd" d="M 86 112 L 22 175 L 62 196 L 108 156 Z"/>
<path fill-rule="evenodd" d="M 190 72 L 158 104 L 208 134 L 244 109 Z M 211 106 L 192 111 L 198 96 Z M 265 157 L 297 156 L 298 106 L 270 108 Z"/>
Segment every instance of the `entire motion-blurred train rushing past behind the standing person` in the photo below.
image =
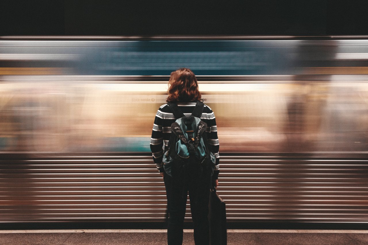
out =
<path fill-rule="evenodd" d="M 228 220 L 368 222 L 368 37 L 2 37 L 0 64 L 1 222 L 163 220 L 149 141 L 179 67 Z"/>

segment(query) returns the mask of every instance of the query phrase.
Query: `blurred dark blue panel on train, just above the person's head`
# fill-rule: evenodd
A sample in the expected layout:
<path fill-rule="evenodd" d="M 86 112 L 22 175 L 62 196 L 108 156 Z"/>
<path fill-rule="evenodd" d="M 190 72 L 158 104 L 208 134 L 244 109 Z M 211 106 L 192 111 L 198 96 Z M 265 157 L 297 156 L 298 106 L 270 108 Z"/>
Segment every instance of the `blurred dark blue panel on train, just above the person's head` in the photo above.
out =
<path fill-rule="evenodd" d="M 141 42 L 134 47 L 88 47 L 79 74 L 169 75 L 189 67 L 197 75 L 291 74 L 290 46 L 229 46 L 221 42 Z M 122 43 L 123 44 L 123 43 Z M 164 45 L 166 44 L 166 46 Z M 190 44 L 190 45 L 189 45 Z M 208 46 L 205 46 L 207 44 Z"/>

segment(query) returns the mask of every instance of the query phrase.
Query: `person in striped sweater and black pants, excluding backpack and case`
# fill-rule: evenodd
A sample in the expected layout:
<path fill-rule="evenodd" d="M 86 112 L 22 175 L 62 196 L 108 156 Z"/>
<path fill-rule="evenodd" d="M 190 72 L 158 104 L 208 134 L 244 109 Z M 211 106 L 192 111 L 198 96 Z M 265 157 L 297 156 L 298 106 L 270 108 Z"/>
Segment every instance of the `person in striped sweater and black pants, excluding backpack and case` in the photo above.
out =
<path fill-rule="evenodd" d="M 167 90 L 166 102 L 174 102 L 178 105 L 181 112 L 191 114 L 195 104 L 201 99 L 198 90 L 198 81 L 193 72 L 188 68 L 180 68 L 171 72 L 169 79 L 169 89 Z M 208 224 L 208 201 L 209 188 L 206 184 L 205 175 L 201 182 L 191 181 L 187 187 L 180 185 L 164 172 L 162 165 L 163 153 L 167 150 L 171 134 L 171 124 L 176 118 L 168 104 L 160 106 L 156 113 L 153 123 L 151 151 L 153 161 L 162 175 L 166 188 L 167 208 L 169 211 L 169 223 L 167 228 L 168 245 L 183 243 L 183 223 L 185 207 L 187 203 L 187 193 L 189 192 L 192 219 L 194 222 L 194 241 L 196 245 L 209 244 L 209 224 Z M 219 140 L 217 138 L 217 126 L 215 114 L 210 107 L 204 105 L 201 120 L 207 124 L 206 134 L 208 136 L 209 150 L 216 157 L 215 171 L 212 175 L 212 183 L 218 186 L 219 175 Z M 165 143 L 165 149 L 162 149 Z M 207 175 L 206 175 L 207 176 Z M 209 180 L 211 181 L 211 180 Z M 195 182 L 195 185 L 194 185 Z"/>

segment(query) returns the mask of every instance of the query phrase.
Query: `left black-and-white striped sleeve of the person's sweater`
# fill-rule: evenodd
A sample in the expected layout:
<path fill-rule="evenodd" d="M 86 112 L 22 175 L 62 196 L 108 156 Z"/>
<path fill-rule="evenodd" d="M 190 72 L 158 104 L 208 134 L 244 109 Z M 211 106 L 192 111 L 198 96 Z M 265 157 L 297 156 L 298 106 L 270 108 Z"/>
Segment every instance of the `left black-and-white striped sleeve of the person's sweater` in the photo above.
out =
<path fill-rule="evenodd" d="M 156 167 L 161 171 L 162 158 L 163 158 L 163 148 L 162 148 L 163 146 L 163 132 L 162 132 L 163 117 L 162 117 L 162 111 L 160 109 L 157 111 L 156 116 L 155 116 L 155 121 L 153 122 L 150 147 L 151 147 L 153 161 L 155 162 Z"/>

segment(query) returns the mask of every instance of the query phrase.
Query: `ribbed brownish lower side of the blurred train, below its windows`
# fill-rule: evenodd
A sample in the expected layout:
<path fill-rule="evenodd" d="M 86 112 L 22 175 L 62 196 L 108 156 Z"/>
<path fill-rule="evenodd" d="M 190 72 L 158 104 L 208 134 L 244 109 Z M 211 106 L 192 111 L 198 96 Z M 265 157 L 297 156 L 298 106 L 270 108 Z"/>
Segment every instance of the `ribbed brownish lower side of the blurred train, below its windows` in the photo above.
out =
<path fill-rule="evenodd" d="M 165 217 L 165 188 L 149 153 L 24 155 L 0 160 L 1 222 Z M 365 155 L 223 153 L 217 192 L 229 221 L 367 222 L 368 161 L 356 160 Z"/>

